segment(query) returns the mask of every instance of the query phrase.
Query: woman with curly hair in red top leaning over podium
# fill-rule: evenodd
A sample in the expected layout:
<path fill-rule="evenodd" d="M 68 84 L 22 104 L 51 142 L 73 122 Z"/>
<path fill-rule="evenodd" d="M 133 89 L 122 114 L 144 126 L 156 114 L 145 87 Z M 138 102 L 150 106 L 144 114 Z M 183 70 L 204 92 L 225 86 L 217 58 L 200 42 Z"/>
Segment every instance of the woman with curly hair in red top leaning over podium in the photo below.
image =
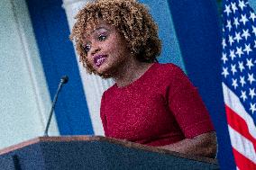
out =
<path fill-rule="evenodd" d="M 88 73 L 113 78 L 102 96 L 105 136 L 215 157 L 215 130 L 180 68 L 159 64 L 158 28 L 136 0 L 97 0 L 76 16 L 70 35 Z"/>

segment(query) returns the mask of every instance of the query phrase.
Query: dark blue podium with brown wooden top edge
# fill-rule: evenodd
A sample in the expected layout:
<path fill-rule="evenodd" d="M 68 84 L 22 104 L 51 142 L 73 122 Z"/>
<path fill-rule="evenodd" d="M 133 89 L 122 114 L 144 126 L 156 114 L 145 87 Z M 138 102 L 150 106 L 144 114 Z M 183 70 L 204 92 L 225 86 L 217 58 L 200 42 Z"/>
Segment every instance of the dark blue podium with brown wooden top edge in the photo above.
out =
<path fill-rule="evenodd" d="M 219 169 L 215 159 L 99 136 L 39 137 L 0 150 L 3 170 Z"/>

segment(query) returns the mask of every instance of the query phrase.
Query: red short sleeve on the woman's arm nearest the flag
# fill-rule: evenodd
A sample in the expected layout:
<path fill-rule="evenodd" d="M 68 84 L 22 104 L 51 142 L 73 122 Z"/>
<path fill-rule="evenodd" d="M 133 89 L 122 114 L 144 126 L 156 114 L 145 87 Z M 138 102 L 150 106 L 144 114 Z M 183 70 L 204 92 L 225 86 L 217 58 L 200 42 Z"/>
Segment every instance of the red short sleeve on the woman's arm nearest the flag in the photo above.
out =
<path fill-rule="evenodd" d="M 214 126 L 197 88 L 185 73 L 176 68 L 168 89 L 169 110 L 187 139 L 213 131 Z"/>

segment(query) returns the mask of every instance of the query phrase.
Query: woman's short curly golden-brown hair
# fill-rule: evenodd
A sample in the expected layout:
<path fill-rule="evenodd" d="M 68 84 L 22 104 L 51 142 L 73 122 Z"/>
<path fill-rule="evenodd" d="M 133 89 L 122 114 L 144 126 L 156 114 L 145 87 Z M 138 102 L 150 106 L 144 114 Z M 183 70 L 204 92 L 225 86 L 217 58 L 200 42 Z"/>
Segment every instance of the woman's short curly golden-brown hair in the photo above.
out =
<path fill-rule="evenodd" d="M 83 40 L 85 34 L 89 33 L 87 28 L 95 29 L 99 21 L 114 25 L 139 61 L 152 63 L 160 55 L 158 26 L 147 6 L 136 0 L 96 0 L 87 3 L 75 19 L 77 21 L 69 38 L 75 40 L 80 62 L 90 74 L 96 74 L 96 70 L 87 61 Z"/>

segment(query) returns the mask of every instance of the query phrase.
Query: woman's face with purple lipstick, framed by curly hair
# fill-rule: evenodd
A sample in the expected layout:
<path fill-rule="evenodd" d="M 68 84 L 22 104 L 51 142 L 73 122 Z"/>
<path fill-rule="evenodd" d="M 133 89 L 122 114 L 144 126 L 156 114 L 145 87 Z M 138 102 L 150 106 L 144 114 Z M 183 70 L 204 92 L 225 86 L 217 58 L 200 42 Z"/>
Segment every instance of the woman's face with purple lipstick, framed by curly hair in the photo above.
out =
<path fill-rule="evenodd" d="M 131 50 L 114 26 L 100 22 L 83 41 L 89 65 L 100 75 L 112 75 L 123 66 Z"/>

